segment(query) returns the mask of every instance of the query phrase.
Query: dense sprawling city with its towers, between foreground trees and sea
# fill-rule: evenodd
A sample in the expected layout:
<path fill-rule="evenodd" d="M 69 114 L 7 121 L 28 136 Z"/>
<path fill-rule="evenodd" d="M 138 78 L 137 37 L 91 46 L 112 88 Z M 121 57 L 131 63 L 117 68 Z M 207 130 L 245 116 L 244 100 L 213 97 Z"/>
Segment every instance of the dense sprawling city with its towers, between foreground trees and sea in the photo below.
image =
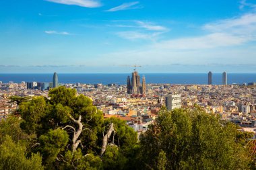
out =
<path fill-rule="evenodd" d="M 53 82 L 1 83 L 0 118 L 6 118 L 17 109 L 9 97 L 48 97 L 51 88 L 65 86 L 78 94 L 90 97 L 104 118 L 116 117 L 125 120 L 137 132 L 145 132 L 154 123 L 162 106 L 168 110 L 200 106 L 207 113 L 217 114 L 222 120 L 234 122 L 243 130 L 256 135 L 256 89 L 255 83 L 228 85 L 227 73 L 223 73 L 223 85 L 212 85 L 212 72 L 208 73 L 208 85 L 146 84 L 146 77 L 134 72 L 127 77 L 127 85 L 116 84 L 61 84 L 57 73 Z"/>

